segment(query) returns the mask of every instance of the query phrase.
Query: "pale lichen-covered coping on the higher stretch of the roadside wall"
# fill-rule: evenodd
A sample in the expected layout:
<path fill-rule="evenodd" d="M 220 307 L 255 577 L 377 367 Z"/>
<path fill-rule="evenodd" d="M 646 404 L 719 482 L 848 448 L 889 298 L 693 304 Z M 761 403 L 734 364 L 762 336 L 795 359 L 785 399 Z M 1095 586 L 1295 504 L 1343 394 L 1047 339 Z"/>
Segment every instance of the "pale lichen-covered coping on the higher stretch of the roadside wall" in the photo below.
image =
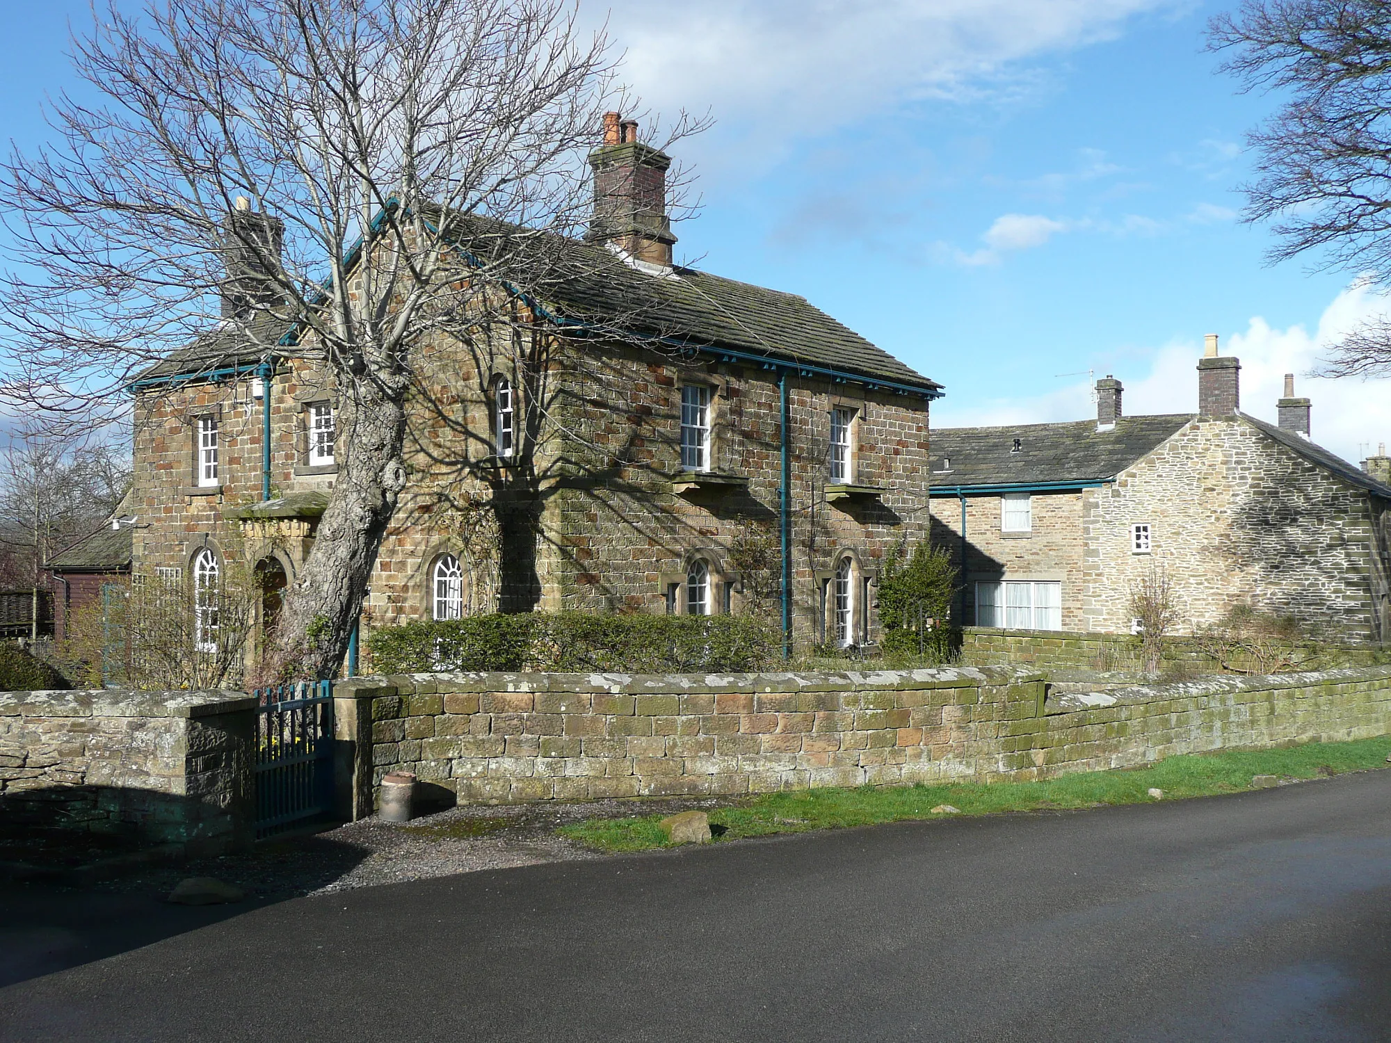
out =
<path fill-rule="evenodd" d="M 718 695 L 801 691 L 978 688 L 1042 681 L 1038 670 L 1011 666 L 944 666 L 922 670 L 844 670 L 821 673 L 405 673 L 353 677 L 334 684 L 338 698 L 388 695 L 574 693 L 612 695 Z"/>

